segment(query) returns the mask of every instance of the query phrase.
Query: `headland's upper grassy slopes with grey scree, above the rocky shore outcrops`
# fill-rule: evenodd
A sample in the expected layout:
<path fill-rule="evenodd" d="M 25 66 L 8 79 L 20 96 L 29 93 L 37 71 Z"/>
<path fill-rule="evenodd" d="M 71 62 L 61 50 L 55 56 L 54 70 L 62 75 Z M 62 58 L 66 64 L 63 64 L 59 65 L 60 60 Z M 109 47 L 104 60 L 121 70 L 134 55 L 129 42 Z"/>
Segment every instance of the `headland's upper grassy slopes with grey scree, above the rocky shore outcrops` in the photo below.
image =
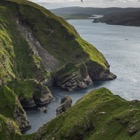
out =
<path fill-rule="evenodd" d="M 84 63 L 88 69 L 89 61 L 96 62 L 101 71 L 93 71 L 95 75 L 109 70 L 98 50 L 85 42 L 71 25 L 48 10 L 24 0 L 3 1 L 0 10 L 1 84 L 16 78 L 36 79 L 48 84 L 47 81 L 54 77 L 55 82 L 58 77 L 54 73 L 68 63 Z M 96 69 L 94 63 L 92 68 Z"/>

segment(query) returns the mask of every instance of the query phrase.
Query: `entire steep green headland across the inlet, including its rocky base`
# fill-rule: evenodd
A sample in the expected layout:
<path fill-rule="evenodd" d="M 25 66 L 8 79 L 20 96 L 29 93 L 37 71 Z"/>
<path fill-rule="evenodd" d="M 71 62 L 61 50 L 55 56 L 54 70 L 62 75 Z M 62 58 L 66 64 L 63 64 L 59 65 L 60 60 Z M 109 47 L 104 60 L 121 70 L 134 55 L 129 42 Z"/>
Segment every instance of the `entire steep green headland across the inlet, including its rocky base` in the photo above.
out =
<path fill-rule="evenodd" d="M 71 91 L 115 78 L 104 56 L 62 18 L 29 1 L 0 2 L 0 113 L 21 131 L 29 128 L 21 104 L 50 103 L 48 86 Z"/>

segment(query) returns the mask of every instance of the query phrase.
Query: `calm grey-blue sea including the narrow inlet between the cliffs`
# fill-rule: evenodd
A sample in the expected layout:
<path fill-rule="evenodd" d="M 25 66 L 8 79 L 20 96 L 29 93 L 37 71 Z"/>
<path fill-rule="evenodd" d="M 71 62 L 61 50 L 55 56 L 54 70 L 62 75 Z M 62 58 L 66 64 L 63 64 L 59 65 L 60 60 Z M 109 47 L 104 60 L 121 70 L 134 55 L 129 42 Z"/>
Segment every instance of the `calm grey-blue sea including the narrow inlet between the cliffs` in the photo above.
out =
<path fill-rule="evenodd" d="M 48 106 L 47 114 L 27 111 L 32 125 L 32 129 L 27 133 L 37 131 L 44 123 L 53 119 L 60 99 L 65 95 L 70 95 L 75 103 L 92 89 L 106 87 L 127 100 L 140 100 L 140 28 L 92 23 L 92 20 L 69 20 L 68 22 L 77 29 L 81 37 L 104 54 L 111 65 L 111 71 L 118 78 L 71 93 L 53 89 L 56 99 Z"/>

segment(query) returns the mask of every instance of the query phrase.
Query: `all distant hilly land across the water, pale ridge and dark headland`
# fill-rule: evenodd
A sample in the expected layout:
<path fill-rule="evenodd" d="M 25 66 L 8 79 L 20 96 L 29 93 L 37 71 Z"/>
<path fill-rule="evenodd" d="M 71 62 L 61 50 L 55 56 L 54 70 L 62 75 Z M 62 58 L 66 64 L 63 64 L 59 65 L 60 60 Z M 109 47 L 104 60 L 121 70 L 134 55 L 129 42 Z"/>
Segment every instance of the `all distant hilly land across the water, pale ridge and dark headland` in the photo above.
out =
<path fill-rule="evenodd" d="M 93 17 L 93 22 L 104 22 L 113 25 L 140 26 L 140 8 L 92 8 L 92 7 L 65 7 L 51 10 L 65 19 L 85 19 Z M 103 15 L 94 18 L 94 15 Z"/>

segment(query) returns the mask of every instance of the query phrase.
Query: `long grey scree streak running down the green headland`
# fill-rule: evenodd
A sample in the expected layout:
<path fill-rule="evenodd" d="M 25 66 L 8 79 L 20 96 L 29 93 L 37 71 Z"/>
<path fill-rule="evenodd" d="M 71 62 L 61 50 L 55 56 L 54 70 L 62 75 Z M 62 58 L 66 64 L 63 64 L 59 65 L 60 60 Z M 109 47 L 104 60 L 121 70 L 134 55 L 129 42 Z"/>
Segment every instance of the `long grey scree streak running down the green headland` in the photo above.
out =
<path fill-rule="evenodd" d="M 19 19 L 17 19 L 16 23 L 21 34 L 24 35 L 28 43 L 32 46 L 33 54 L 42 59 L 42 64 L 47 70 L 55 70 L 59 65 L 58 60 L 41 46 L 39 41 L 33 36 L 31 29 L 29 29 L 26 24 L 23 25 L 22 21 L 19 21 Z"/>

